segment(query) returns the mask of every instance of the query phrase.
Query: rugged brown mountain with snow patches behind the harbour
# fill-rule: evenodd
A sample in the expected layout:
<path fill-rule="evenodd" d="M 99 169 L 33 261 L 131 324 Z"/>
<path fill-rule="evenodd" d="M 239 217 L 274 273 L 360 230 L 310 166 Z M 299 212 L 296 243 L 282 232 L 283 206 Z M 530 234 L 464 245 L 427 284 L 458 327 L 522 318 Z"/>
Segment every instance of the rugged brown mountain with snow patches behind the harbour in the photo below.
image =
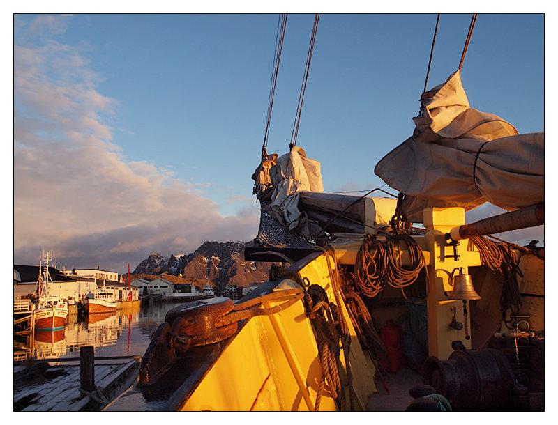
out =
<path fill-rule="evenodd" d="M 269 279 L 271 263 L 244 260 L 244 242 L 204 242 L 193 253 L 164 258 L 154 252 L 135 268 L 133 274 L 182 275 L 204 279 L 214 286 L 246 287 Z"/>

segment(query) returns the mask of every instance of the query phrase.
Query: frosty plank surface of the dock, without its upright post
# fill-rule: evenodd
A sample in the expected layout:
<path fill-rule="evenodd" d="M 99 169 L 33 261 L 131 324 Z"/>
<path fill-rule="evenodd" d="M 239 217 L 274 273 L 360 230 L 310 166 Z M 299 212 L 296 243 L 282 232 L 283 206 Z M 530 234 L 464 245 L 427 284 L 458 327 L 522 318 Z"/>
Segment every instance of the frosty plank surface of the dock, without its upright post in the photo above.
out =
<path fill-rule="evenodd" d="M 15 392 L 14 410 L 101 410 L 135 382 L 140 368 L 140 357 L 97 357 L 96 390 L 91 393 L 80 389 L 79 359 L 49 360 L 47 363 L 49 367 L 43 373 L 42 383 L 29 383 L 24 389 Z M 14 372 L 23 370 L 22 364 L 16 364 L 14 367 Z"/>

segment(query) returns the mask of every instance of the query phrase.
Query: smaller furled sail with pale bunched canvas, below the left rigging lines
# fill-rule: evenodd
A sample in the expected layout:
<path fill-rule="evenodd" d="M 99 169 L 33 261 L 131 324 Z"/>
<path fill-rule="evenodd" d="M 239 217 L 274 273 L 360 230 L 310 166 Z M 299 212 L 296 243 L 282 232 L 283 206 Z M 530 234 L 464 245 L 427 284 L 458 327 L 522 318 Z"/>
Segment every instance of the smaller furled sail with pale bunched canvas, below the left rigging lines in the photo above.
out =
<path fill-rule="evenodd" d="M 282 237 L 291 238 L 289 245 L 296 242 L 293 235 L 315 239 L 324 229 L 363 234 L 388 226 L 395 199 L 324 193 L 320 168 L 321 164 L 308 158 L 299 146 L 279 158 L 275 153 L 264 155 L 252 175 L 254 193 L 262 202 L 261 221 L 271 227 L 271 216 L 285 226 L 289 236 Z M 262 229 L 262 222 L 259 242 L 278 245 L 278 238 L 269 234 L 271 229 Z"/>

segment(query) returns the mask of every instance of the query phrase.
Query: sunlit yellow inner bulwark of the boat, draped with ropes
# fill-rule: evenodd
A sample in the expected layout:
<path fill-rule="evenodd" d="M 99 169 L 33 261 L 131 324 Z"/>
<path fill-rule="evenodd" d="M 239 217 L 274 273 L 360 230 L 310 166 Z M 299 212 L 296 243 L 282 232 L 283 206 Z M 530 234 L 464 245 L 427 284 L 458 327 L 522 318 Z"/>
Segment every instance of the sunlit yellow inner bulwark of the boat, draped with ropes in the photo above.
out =
<path fill-rule="evenodd" d="M 329 301 L 335 302 L 325 254 L 302 264 L 299 275 L 322 286 Z M 274 291 L 289 288 L 299 288 L 299 284 L 283 279 Z M 264 307 L 273 305 L 271 302 Z M 341 310 L 351 335 L 354 406 L 364 410 L 368 396 L 376 392 L 375 367 L 361 349 L 345 305 Z M 343 358 L 341 355 L 345 366 Z M 347 383 L 346 371 L 340 370 L 340 374 L 342 382 Z M 250 319 L 181 410 L 314 410 L 321 378 L 314 330 L 301 300 L 278 314 Z M 345 394 L 348 405 L 348 387 Z M 327 391 L 322 394 L 319 410 L 335 410 Z"/>

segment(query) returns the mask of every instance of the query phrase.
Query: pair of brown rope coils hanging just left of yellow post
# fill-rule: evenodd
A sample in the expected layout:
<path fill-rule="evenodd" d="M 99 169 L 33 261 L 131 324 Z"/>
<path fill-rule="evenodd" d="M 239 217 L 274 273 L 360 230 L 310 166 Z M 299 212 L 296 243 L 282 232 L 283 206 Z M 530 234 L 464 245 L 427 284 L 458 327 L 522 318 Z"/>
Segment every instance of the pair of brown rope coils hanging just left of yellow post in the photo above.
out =
<path fill-rule="evenodd" d="M 385 245 L 384 245 L 385 243 Z M 406 233 L 389 234 L 385 242 L 375 235 L 365 235 L 356 254 L 354 263 L 354 283 L 367 297 L 375 297 L 386 285 L 401 290 L 414 284 L 425 261 L 421 247 Z M 401 254 L 405 245 L 409 252 L 409 265 L 403 266 Z"/>

